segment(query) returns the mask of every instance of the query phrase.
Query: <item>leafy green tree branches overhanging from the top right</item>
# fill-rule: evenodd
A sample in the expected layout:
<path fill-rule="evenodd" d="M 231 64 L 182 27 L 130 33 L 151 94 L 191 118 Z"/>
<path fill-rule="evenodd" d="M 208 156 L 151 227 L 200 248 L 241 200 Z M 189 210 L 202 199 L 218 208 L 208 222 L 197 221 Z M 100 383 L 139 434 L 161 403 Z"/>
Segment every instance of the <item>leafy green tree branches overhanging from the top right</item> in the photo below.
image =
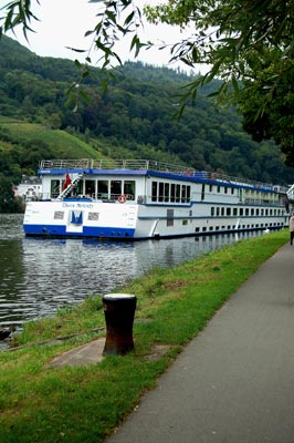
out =
<path fill-rule="evenodd" d="M 115 43 L 132 34 L 130 50 L 135 55 L 143 47 L 139 37 L 141 9 L 136 0 L 92 0 L 97 3 L 97 24 L 86 32 L 101 53 L 103 69 L 120 62 Z M 30 0 L 12 0 L 0 20 L 0 32 L 22 24 L 30 30 Z M 168 23 L 190 30 L 190 37 L 170 48 L 171 61 L 181 60 L 193 66 L 206 63 L 207 74 L 197 76 L 182 90 L 182 106 L 196 100 L 197 91 L 213 79 L 221 79 L 218 97 L 230 96 L 244 116 L 244 127 L 256 140 L 273 137 L 294 166 L 292 79 L 293 0 L 169 0 L 145 14 L 153 23 Z M 86 59 L 91 63 L 90 56 Z M 83 68 L 83 76 L 87 70 Z"/>

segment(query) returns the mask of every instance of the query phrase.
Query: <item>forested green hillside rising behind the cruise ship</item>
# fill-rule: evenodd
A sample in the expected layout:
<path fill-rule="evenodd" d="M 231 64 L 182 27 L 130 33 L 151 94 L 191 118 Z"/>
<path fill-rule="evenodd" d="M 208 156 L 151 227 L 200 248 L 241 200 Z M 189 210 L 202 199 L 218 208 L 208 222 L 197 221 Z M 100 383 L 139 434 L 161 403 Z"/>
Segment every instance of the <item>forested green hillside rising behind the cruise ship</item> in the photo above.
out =
<path fill-rule="evenodd" d="M 73 112 L 66 91 L 80 75 L 74 62 L 40 58 L 14 40 L 0 40 L 0 177 L 18 182 L 21 174 L 35 173 L 45 156 L 72 157 L 70 134 L 73 144 L 77 138 L 87 146 L 88 156 L 180 162 L 200 171 L 293 182 L 279 147 L 253 142 L 238 114 L 216 109 L 204 93 L 175 120 L 175 94 L 189 82 L 183 72 L 128 62 L 103 94 L 98 70 L 92 71 L 83 82 L 90 102 L 81 101 Z M 25 124 L 25 136 L 15 121 Z M 53 134 L 67 134 L 63 147 L 56 148 Z"/>

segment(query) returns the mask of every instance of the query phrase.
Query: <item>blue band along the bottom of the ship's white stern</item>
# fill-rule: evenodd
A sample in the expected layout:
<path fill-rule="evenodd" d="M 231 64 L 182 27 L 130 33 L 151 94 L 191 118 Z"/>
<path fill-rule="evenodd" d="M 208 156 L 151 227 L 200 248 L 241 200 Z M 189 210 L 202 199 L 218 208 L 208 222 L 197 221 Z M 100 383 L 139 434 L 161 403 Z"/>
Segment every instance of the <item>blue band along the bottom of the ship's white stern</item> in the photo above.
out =
<path fill-rule="evenodd" d="M 103 238 L 134 238 L 135 229 L 112 228 L 112 227 L 87 227 L 82 233 L 66 231 L 65 226 L 54 225 L 23 225 L 24 234 L 28 236 L 42 237 L 103 237 Z"/>

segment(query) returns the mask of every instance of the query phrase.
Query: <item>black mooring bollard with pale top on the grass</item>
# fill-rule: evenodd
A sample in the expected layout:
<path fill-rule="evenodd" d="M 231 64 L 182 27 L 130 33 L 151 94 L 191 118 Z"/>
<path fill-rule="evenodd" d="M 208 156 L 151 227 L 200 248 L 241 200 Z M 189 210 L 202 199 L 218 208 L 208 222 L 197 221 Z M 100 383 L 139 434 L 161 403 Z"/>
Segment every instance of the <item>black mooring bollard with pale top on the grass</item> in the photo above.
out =
<path fill-rule="evenodd" d="M 134 349 L 133 323 L 137 298 L 129 293 L 106 293 L 103 308 L 106 321 L 104 356 L 124 356 Z"/>

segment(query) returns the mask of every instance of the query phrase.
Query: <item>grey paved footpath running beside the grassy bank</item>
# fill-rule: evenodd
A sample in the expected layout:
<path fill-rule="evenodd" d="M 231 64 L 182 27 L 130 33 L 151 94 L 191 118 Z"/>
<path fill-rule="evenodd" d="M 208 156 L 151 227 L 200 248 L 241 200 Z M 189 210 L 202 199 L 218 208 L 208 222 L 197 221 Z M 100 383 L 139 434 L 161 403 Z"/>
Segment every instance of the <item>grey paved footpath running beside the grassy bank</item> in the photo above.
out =
<path fill-rule="evenodd" d="M 233 295 L 107 443 L 294 443 L 294 246 Z"/>

